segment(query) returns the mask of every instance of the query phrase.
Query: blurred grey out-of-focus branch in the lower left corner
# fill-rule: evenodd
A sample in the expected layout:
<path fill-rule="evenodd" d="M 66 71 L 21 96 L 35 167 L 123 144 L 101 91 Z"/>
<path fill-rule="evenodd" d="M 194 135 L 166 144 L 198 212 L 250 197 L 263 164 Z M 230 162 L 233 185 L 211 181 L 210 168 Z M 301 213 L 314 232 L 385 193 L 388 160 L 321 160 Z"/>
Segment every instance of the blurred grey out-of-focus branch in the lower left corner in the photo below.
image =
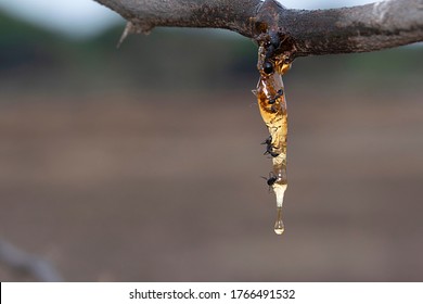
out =
<path fill-rule="evenodd" d="M 3 240 L 0 240 L 0 263 L 15 270 L 27 273 L 40 281 L 63 281 L 62 277 L 49 262 L 26 253 Z"/>

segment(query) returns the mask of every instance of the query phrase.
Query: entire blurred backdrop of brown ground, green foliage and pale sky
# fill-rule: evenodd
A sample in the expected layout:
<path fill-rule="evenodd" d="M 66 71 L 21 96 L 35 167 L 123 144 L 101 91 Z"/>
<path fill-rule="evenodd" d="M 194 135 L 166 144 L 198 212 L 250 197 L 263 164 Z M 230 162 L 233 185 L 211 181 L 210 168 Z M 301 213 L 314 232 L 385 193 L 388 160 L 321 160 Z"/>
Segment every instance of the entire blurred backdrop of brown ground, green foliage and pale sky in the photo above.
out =
<path fill-rule="evenodd" d="M 123 20 L 72 2 L 0 4 L 0 240 L 66 281 L 423 280 L 421 45 L 294 62 L 278 237 L 256 46 L 157 28 L 116 49 Z M 309 2 L 284 3 L 332 4 Z"/>

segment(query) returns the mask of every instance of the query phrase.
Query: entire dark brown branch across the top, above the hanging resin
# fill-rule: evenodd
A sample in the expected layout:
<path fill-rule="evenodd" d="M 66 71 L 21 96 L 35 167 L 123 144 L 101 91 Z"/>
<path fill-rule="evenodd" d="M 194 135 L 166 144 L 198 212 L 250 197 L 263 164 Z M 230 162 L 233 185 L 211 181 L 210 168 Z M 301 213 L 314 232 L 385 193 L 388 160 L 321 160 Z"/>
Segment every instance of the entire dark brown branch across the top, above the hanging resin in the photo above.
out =
<path fill-rule="evenodd" d="M 274 0 L 95 0 L 128 20 L 155 26 L 227 28 L 256 41 L 273 31 L 291 58 L 368 52 L 423 41 L 423 0 L 387 0 L 333 10 L 287 10 Z M 127 30 L 129 31 L 129 30 Z"/>

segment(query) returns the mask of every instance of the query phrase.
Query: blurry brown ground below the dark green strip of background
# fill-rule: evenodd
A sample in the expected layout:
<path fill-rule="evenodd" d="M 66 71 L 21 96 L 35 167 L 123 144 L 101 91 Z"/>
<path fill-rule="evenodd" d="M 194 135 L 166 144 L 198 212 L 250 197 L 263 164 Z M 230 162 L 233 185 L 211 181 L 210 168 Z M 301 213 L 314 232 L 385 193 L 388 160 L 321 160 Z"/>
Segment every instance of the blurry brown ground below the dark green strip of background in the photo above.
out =
<path fill-rule="evenodd" d="M 403 93 L 287 88 L 282 237 L 247 89 L 8 103 L 1 237 L 69 281 L 421 281 L 423 103 Z"/>

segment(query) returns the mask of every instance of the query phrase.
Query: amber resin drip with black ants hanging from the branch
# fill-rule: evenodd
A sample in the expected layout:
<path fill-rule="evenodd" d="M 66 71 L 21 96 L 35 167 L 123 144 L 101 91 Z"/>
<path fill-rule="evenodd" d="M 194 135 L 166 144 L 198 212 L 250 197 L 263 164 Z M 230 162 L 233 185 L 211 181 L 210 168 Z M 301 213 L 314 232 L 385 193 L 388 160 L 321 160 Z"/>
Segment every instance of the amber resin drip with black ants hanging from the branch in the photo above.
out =
<path fill-rule="evenodd" d="M 272 159 L 272 170 L 267 180 L 277 198 L 277 221 L 274 232 L 282 235 L 284 226 L 282 221 L 283 197 L 287 187 L 286 179 L 286 138 L 287 113 L 286 100 L 283 88 L 282 75 L 290 69 L 291 64 L 281 54 L 274 54 L 274 42 L 261 42 L 258 49 L 257 68 L 260 78 L 257 89 L 253 91 L 257 97 L 261 117 L 269 130 L 266 139 L 265 154 Z"/>

